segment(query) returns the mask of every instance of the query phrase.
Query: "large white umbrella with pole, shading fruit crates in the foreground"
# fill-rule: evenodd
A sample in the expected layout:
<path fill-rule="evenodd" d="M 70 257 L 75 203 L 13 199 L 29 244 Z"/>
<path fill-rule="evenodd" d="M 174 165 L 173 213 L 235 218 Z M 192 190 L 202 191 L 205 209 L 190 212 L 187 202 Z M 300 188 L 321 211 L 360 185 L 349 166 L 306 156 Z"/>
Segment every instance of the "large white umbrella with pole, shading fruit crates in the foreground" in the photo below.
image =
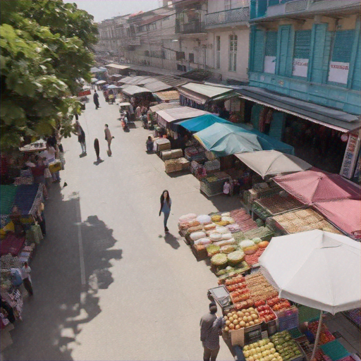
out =
<path fill-rule="evenodd" d="M 314 230 L 274 237 L 259 264 L 280 297 L 321 310 L 312 359 L 322 312 L 360 307 L 361 244 L 345 235 Z"/>

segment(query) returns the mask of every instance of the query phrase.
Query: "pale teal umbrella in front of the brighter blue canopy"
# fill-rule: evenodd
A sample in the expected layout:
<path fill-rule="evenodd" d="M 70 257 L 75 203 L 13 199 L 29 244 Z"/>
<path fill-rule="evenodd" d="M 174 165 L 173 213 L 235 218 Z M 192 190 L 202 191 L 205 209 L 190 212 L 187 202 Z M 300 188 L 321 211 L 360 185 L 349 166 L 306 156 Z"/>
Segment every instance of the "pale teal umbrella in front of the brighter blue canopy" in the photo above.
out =
<path fill-rule="evenodd" d="M 229 122 L 228 122 L 229 123 Z M 194 137 L 217 157 L 262 150 L 257 135 L 244 131 L 232 123 L 214 123 L 195 133 Z"/>

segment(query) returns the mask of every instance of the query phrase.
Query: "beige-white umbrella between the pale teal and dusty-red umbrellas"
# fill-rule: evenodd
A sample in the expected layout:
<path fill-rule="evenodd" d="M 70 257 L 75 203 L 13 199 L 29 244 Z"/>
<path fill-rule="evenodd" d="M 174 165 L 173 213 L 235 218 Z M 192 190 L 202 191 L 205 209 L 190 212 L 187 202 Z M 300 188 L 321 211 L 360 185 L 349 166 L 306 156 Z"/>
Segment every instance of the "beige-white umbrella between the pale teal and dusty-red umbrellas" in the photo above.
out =
<path fill-rule="evenodd" d="M 262 178 L 276 176 L 279 173 L 293 173 L 312 168 L 307 161 L 284 154 L 277 150 L 261 150 L 259 152 L 238 153 L 235 157 L 243 161 L 250 169 L 257 172 Z"/>

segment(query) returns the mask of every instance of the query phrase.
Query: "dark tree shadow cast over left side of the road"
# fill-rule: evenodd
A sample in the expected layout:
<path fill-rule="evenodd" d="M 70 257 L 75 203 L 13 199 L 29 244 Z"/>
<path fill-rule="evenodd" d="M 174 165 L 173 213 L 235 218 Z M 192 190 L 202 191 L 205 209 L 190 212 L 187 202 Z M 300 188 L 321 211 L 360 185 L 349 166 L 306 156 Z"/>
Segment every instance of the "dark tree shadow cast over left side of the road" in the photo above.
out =
<path fill-rule="evenodd" d="M 98 290 L 114 281 L 111 260 L 122 258 L 122 250 L 110 249 L 116 239 L 104 221 L 94 215 L 80 222 L 77 194 L 63 200 L 52 188 L 45 217 L 47 237 L 30 264 L 34 296 L 24 298 L 23 322 L 3 353 L 7 361 L 73 360 L 82 324 L 102 312 Z"/>

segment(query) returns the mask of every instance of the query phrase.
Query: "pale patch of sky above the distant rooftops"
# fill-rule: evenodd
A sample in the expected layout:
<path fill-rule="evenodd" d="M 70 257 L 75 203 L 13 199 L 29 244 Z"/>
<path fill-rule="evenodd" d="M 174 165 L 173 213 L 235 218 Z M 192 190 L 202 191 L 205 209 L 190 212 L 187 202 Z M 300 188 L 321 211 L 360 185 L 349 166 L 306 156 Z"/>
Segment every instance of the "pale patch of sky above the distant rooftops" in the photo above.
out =
<path fill-rule="evenodd" d="M 64 0 L 66 3 L 75 3 L 78 8 L 94 16 L 94 21 L 99 23 L 114 16 L 148 11 L 158 8 L 159 0 Z"/>

